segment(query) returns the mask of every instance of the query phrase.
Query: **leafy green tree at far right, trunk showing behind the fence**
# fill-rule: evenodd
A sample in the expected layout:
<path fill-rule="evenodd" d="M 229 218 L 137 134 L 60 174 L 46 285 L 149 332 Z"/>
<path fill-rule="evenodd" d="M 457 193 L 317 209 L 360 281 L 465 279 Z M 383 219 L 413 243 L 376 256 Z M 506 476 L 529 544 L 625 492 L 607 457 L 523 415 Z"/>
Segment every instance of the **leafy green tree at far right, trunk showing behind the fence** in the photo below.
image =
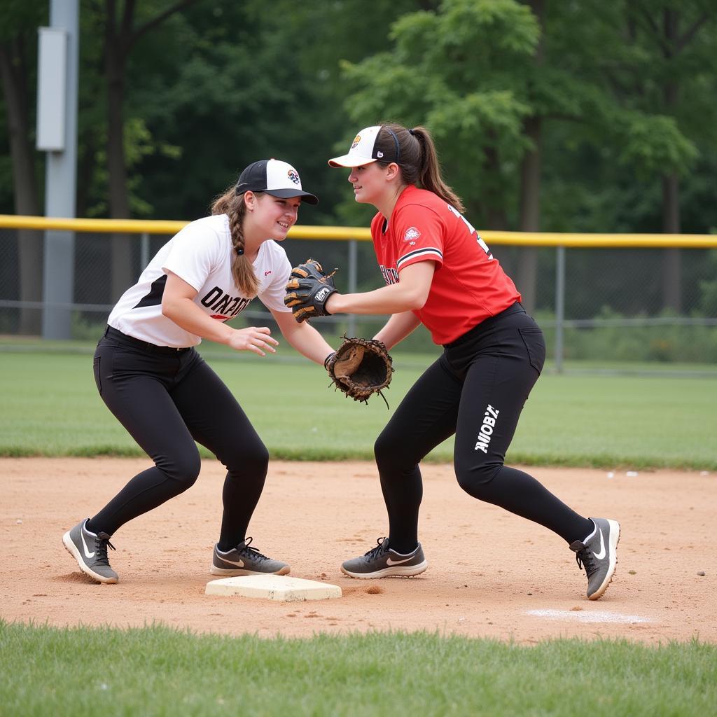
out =
<path fill-rule="evenodd" d="M 625 185 L 617 204 L 627 203 L 633 224 L 639 223 L 633 196 L 637 188 L 645 196 L 657 180 L 662 189 L 659 214 L 638 231 L 680 233 L 680 180 L 714 143 L 717 116 L 705 82 L 717 69 L 709 5 L 707 0 L 589 2 L 605 36 L 612 34 L 605 44 L 611 52 L 595 62 L 616 102 L 607 125 L 612 129 L 604 136 L 612 154 L 604 159 L 616 167 L 607 181 Z M 710 24 L 711 34 L 706 32 Z M 680 277 L 680 252 L 666 250 L 665 307 L 680 310 Z"/>

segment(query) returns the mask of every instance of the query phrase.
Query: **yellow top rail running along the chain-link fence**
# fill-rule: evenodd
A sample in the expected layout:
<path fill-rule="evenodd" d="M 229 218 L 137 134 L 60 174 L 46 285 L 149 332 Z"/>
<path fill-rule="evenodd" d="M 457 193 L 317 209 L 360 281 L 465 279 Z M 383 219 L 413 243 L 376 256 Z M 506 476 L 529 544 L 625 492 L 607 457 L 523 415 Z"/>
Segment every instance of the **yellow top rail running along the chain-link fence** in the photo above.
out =
<path fill-rule="evenodd" d="M 176 234 L 189 222 L 154 219 L 65 219 L 62 217 L 20 217 L 0 214 L 4 229 L 60 229 L 70 232 L 127 234 Z M 480 232 L 488 244 L 521 247 L 630 247 L 713 249 L 717 234 L 570 234 L 557 232 Z M 367 227 L 291 227 L 293 239 L 359 239 L 370 241 Z"/>

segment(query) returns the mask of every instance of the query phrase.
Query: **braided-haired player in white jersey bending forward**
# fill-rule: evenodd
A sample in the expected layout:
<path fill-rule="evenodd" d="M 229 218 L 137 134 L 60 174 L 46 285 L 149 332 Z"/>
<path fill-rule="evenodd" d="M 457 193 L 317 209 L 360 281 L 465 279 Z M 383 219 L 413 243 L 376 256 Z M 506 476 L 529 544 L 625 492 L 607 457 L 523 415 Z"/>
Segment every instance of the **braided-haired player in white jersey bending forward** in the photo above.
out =
<path fill-rule="evenodd" d="M 232 576 L 286 574 L 246 537 L 262 493 L 268 454 L 227 386 L 194 346 L 202 338 L 260 356 L 278 342 L 267 327 L 235 329 L 234 318 L 259 296 L 284 338 L 323 364 L 331 346 L 284 305 L 291 265 L 276 242 L 296 222 L 303 191 L 298 172 L 275 159 L 252 163 L 212 206 L 165 244 L 120 298 L 95 353 L 95 381 L 115 417 L 153 459 L 63 543 L 92 579 L 116 583 L 108 548 L 113 533 L 194 484 L 200 460 L 195 441 L 227 467 L 224 514 L 211 572 Z"/>

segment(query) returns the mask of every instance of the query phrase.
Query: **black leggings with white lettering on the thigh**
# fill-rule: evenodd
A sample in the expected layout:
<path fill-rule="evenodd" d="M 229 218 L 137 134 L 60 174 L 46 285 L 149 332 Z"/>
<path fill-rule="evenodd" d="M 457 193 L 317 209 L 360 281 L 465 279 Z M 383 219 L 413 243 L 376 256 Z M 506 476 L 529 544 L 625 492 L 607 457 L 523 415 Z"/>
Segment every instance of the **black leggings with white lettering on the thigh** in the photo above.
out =
<path fill-rule="evenodd" d="M 543 333 L 516 303 L 445 346 L 412 386 L 374 447 L 391 548 L 408 553 L 416 546 L 423 495 L 418 464 L 454 434 L 455 474 L 466 493 L 541 523 L 569 543 L 592 531 L 592 521 L 531 475 L 503 465 L 544 361 Z"/>

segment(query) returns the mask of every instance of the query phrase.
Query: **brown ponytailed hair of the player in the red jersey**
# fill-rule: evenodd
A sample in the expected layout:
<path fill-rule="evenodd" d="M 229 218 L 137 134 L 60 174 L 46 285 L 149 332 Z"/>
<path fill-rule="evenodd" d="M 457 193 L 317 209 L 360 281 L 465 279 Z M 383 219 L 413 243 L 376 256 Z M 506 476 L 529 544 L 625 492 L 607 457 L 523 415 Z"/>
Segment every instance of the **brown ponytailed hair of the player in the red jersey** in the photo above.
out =
<path fill-rule="evenodd" d="M 384 156 L 391 157 L 389 161 L 379 161 L 379 164 L 398 164 L 404 184 L 416 184 L 421 189 L 432 191 L 459 212 L 465 212 L 460 197 L 442 179 L 436 146 L 425 127 L 409 130 L 396 123 L 381 124 L 381 130 L 376 136 L 376 148 Z"/>

